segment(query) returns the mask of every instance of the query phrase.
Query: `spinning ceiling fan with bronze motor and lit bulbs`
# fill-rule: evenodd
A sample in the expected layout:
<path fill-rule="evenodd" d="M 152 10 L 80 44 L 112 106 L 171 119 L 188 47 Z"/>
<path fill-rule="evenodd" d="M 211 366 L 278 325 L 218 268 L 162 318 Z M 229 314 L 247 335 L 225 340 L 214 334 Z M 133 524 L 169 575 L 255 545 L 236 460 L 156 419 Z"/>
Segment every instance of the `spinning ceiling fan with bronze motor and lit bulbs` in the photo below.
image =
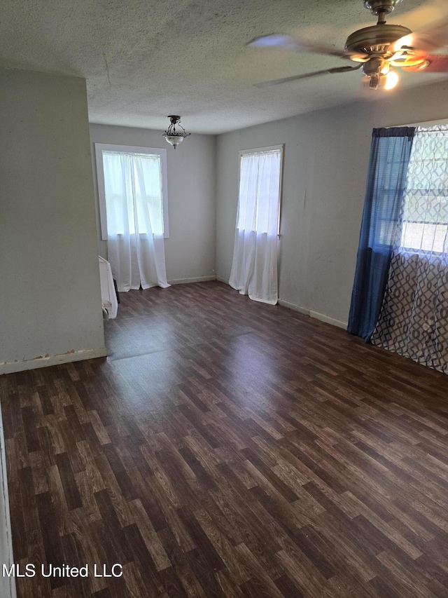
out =
<path fill-rule="evenodd" d="M 363 0 L 365 8 L 378 17 L 377 25 L 363 27 L 349 35 L 344 50 L 283 34 L 270 34 L 253 39 L 248 46 L 314 52 L 339 56 L 358 63 L 356 66 L 346 65 L 256 83 L 255 87 L 270 87 L 316 75 L 345 73 L 362 68 L 370 89 L 391 89 L 398 83 L 395 70 L 397 68 L 410 72 L 448 72 L 448 55 L 430 53 L 437 48 L 448 46 L 448 16 L 444 15 L 444 18 L 427 29 L 414 33 L 402 25 L 386 24 L 386 15 L 401 1 Z"/>

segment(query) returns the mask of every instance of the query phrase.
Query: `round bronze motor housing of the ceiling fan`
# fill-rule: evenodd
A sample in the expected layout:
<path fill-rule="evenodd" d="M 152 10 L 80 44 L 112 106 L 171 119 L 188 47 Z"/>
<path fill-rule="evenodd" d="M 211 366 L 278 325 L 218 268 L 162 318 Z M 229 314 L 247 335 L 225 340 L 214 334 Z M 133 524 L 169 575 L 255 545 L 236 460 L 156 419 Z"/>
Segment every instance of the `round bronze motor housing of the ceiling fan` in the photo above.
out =
<path fill-rule="evenodd" d="M 412 33 L 411 29 L 402 25 L 373 25 L 363 27 L 353 32 L 347 38 L 345 49 L 347 52 L 365 53 L 372 57 L 391 57 L 388 48 L 394 41 Z"/>

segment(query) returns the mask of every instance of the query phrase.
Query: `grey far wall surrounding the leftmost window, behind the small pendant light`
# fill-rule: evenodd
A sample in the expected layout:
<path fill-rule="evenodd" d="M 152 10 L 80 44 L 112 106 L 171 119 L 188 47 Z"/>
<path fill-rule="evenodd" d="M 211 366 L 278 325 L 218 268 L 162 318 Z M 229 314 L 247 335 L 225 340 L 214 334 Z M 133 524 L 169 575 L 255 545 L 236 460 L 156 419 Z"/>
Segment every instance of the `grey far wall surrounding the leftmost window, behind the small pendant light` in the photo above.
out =
<path fill-rule="evenodd" d="M 99 254 L 107 258 L 107 242 L 101 240 L 99 228 L 94 144 L 162 147 L 167 149 L 168 170 L 169 239 L 165 239 L 168 282 L 214 278 L 216 137 L 190 135 L 174 150 L 162 137 L 162 131 L 92 124 L 90 138 Z"/>

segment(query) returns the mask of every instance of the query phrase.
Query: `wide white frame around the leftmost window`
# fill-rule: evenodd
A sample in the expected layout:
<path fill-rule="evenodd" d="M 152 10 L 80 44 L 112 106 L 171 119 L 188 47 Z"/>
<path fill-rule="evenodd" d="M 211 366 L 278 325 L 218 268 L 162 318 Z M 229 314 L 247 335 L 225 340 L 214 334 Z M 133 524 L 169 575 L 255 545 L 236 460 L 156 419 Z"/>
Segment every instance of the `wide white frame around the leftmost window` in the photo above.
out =
<path fill-rule="evenodd" d="M 102 240 L 108 240 L 107 233 L 107 208 L 106 192 L 104 189 L 104 165 L 103 151 L 116 151 L 118 154 L 148 154 L 160 156 L 160 172 L 162 175 L 162 214 L 163 214 L 163 238 L 169 238 L 168 223 L 168 175 L 167 175 L 167 150 L 162 147 L 139 147 L 135 145 L 116 145 L 108 143 L 95 143 L 95 158 L 97 162 L 97 183 L 99 201 L 99 223 L 101 227 Z"/>

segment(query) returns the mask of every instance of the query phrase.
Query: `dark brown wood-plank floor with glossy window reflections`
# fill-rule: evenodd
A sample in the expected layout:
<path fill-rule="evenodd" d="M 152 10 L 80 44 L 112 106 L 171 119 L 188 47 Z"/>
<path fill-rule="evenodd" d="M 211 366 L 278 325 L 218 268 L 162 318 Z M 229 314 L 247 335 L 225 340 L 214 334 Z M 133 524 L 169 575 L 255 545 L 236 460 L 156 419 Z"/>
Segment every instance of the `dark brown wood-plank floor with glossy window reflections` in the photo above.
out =
<path fill-rule="evenodd" d="M 220 283 L 120 298 L 107 360 L 0 377 L 19 597 L 448 596 L 446 375 Z"/>

